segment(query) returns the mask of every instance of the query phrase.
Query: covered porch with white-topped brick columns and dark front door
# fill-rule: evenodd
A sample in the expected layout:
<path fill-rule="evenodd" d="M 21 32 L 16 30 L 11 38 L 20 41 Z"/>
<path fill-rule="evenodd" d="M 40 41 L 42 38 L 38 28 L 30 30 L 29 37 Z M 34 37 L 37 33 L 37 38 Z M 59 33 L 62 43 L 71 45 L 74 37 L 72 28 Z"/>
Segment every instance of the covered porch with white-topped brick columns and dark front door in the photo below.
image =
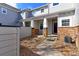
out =
<path fill-rule="evenodd" d="M 25 23 L 26 22 L 29 21 L 25 21 Z M 32 37 L 38 35 L 45 37 L 48 35 L 57 35 L 57 17 L 31 20 L 30 27 Z"/>

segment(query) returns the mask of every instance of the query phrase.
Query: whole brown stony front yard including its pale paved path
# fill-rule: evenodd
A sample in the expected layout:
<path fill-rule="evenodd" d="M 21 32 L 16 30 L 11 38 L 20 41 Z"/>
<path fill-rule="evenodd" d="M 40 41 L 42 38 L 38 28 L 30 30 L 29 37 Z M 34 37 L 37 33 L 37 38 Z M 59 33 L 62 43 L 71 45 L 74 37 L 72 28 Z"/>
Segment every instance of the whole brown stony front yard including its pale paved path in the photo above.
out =
<path fill-rule="evenodd" d="M 79 56 L 75 45 L 63 45 L 56 37 L 35 37 L 21 40 L 23 56 Z"/>

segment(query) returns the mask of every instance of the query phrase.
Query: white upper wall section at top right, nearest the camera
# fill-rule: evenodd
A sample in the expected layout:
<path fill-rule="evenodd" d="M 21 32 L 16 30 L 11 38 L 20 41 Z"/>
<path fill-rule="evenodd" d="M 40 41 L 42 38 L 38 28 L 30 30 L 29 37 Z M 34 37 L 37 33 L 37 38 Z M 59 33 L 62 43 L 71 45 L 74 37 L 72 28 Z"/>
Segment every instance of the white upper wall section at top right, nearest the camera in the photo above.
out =
<path fill-rule="evenodd" d="M 49 4 L 49 13 L 62 12 L 75 9 L 75 3 L 59 3 L 53 6 L 53 3 Z"/>

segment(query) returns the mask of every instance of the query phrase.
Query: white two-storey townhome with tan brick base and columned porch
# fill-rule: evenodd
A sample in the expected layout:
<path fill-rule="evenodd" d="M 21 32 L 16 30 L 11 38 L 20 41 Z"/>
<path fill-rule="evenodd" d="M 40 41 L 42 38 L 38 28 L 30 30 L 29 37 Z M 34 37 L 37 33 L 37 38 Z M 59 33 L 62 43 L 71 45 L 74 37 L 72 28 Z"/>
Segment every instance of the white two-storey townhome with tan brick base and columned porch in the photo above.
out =
<path fill-rule="evenodd" d="M 79 4 L 77 3 L 49 3 L 33 10 L 23 12 L 21 20 L 24 26 L 31 25 L 32 36 L 43 34 L 58 35 L 64 42 L 65 37 L 70 37 L 79 47 Z M 26 17 L 31 13 L 32 16 Z"/>

